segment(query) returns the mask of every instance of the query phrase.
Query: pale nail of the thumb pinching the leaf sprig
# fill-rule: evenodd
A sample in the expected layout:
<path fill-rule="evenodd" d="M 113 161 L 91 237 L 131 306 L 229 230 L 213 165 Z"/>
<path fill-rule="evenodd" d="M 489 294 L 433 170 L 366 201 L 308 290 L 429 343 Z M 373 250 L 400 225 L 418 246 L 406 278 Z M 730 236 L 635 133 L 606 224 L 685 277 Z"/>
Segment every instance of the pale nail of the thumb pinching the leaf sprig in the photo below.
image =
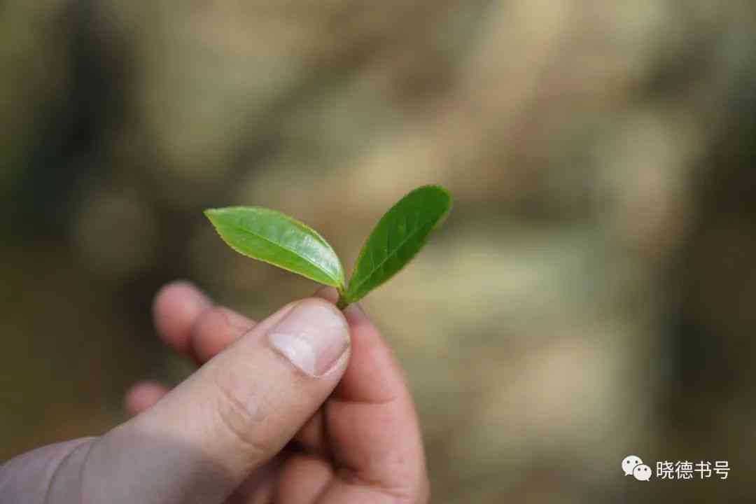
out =
<path fill-rule="evenodd" d="M 302 372 L 323 376 L 349 347 L 349 329 L 336 307 L 307 300 L 268 332 L 271 346 Z"/>

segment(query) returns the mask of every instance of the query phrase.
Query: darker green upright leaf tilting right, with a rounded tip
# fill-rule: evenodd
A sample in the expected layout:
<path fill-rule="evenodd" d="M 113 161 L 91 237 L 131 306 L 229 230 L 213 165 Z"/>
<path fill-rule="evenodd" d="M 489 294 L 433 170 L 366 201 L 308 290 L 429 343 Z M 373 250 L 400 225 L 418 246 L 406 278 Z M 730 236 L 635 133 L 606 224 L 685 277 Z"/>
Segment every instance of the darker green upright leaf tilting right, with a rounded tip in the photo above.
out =
<path fill-rule="evenodd" d="M 440 186 L 418 187 L 392 206 L 362 247 L 345 302 L 358 301 L 401 270 L 449 209 L 451 195 Z"/>

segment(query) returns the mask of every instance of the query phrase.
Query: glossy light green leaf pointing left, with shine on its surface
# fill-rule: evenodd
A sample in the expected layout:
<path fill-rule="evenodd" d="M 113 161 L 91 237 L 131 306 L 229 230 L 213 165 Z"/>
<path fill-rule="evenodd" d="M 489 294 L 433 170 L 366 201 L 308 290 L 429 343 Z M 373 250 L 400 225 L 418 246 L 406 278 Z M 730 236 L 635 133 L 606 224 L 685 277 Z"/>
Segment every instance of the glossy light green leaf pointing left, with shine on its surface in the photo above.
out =
<path fill-rule="evenodd" d="M 336 252 L 302 222 L 259 206 L 208 209 L 205 215 L 223 241 L 240 254 L 344 289 L 344 270 Z"/>

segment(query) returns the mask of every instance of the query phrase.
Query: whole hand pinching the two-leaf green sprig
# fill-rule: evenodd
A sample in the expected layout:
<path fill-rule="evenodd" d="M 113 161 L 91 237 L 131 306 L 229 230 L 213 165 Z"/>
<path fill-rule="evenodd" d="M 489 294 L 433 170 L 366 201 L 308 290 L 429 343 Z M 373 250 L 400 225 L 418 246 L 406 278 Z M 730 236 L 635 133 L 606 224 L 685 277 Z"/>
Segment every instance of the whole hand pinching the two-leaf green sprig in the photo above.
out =
<path fill-rule="evenodd" d="M 202 366 L 172 391 L 141 383 L 135 413 L 99 438 L 0 466 L 0 502 L 427 502 L 420 431 L 401 369 L 335 292 L 260 323 L 187 283 L 166 286 L 162 338 Z"/>

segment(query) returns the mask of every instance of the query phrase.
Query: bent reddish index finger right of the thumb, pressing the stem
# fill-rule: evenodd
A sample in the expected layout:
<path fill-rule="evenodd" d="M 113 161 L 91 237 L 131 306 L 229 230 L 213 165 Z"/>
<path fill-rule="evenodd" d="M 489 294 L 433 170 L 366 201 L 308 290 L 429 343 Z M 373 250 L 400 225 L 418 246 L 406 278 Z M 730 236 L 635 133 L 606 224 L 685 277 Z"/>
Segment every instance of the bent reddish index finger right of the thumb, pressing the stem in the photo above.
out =
<path fill-rule="evenodd" d="M 322 502 L 426 502 L 422 438 L 401 368 L 357 305 L 345 314 L 352 356 L 325 406 L 325 431 L 339 470 Z"/>

